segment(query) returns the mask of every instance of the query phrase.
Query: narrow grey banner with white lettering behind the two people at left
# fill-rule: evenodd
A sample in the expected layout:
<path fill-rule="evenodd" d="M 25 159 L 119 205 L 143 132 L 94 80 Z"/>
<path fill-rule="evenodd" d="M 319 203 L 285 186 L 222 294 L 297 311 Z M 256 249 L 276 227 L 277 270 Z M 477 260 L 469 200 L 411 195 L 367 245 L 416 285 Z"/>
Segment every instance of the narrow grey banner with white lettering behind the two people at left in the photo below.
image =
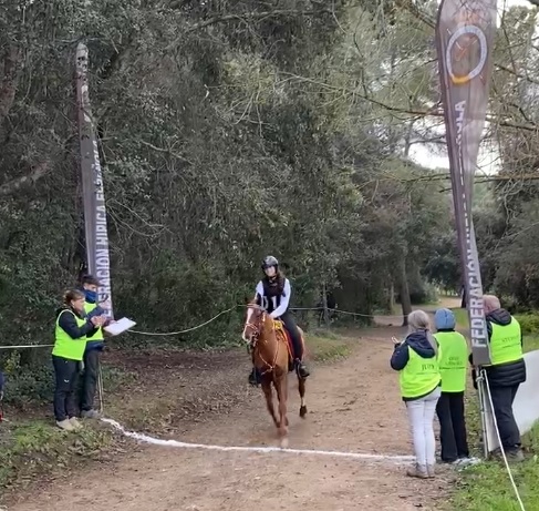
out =
<path fill-rule="evenodd" d="M 87 64 L 87 48 L 80 43 L 76 47 L 75 65 L 86 264 L 89 272 L 101 282 L 97 289 L 99 302 L 112 319 L 111 258 L 108 255 L 106 205 L 97 140 L 90 109 Z"/>

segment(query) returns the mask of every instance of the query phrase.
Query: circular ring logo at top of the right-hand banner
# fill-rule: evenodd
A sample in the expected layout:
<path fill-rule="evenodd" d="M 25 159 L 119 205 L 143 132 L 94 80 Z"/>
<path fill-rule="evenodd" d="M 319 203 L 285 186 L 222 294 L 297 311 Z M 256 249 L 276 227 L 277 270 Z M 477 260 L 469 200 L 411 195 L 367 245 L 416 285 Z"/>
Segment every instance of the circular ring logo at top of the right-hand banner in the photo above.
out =
<path fill-rule="evenodd" d="M 445 52 L 452 82 L 464 85 L 478 76 L 487 62 L 487 38 L 475 24 L 459 27 L 450 37 Z"/>

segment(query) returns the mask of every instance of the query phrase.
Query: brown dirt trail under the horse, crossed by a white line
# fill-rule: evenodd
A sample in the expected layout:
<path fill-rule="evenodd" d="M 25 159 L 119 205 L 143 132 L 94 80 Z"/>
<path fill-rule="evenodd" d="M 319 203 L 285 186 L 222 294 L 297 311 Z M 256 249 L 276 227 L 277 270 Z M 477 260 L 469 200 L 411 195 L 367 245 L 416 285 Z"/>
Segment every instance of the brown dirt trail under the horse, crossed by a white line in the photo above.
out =
<path fill-rule="evenodd" d="M 396 375 L 388 367 L 391 335 L 373 329 L 353 355 L 314 367 L 307 420 L 298 417 L 291 381 L 290 448 L 412 453 Z M 170 435 L 174 436 L 174 435 Z M 261 392 L 219 421 L 188 429 L 178 440 L 224 446 L 277 446 Z M 146 446 L 117 462 L 56 481 L 10 511 L 311 511 L 435 509 L 450 474 L 434 481 L 403 476 L 394 462 L 292 453 L 221 452 Z"/>

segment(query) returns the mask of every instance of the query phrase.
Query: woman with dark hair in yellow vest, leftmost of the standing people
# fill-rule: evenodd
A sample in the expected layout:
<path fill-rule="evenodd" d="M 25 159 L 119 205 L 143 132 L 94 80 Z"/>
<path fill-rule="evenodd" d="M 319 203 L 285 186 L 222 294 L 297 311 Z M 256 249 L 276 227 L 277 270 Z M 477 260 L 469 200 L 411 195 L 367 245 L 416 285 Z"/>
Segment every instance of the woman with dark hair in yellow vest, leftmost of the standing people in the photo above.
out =
<path fill-rule="evenodd" d="M 95 333 L 103 318 L 87 318 L 84 313 L 84 294 L 68 290 L 63 307 L 56 310 L 52 364 L 56 386 L 54 389 L 54 417 L 56 426 L 68 431 L 77 429 L 75 388 L 79 365 L 84 356 L 86 336 Z"/>

